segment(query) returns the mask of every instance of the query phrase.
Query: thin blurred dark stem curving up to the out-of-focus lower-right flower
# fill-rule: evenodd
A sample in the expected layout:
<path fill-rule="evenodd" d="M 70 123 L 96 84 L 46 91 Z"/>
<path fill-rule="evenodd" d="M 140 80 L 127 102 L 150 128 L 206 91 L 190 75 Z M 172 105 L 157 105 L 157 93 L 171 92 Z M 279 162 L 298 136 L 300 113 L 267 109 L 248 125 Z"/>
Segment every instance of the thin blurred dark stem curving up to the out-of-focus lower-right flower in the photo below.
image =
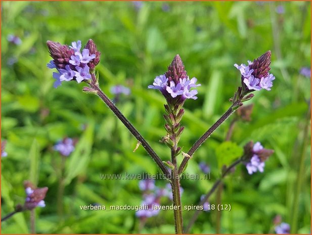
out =
<path fill-rule="evenodd" d="M 213 194 L 213 192 L 217 189 L 218 185 L 222 182 L 222 179 L 229 173 L 231 172 L 231 170 L 238 165 L 239 163 L 242 162 L 242 158 L 236 160 L 234 163 L 232 163 L 232 165 L 230 165 L 221 175 L 221 177 L 214 182 L 214 184 L 212 185 L 210 191 L 206 194 L 206 196 L 200 201 L 199 206 L 203 206 L 204 203 L 209 199 L 209 197 Z M 191 218 L 187 228 L 185 229 L 186 233 L 189 233 L 191 227 L 193 226 L 193 224 L 195 223 L 195 221 L 197 220 L 199 214 L 202 212 L 202 210 L 196 210 L 193 217 Z"/>

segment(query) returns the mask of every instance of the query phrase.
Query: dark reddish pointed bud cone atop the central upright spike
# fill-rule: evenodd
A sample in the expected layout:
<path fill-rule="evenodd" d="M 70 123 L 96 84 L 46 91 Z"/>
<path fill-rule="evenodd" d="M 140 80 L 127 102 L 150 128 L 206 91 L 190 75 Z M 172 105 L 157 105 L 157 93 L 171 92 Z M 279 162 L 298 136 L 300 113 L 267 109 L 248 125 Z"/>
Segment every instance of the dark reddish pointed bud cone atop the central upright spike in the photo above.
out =
<path fill-rule="evenodd" d="M 179 83 L 179 78 L 188 78 L 184 64 L 179 55 L 174 57 L 173 61 L 168 66 L 168 71 L 165 75 L 168 78 L 168 83 L 170 83 L 170 81 L 174 81 L 175 84 Z"/>

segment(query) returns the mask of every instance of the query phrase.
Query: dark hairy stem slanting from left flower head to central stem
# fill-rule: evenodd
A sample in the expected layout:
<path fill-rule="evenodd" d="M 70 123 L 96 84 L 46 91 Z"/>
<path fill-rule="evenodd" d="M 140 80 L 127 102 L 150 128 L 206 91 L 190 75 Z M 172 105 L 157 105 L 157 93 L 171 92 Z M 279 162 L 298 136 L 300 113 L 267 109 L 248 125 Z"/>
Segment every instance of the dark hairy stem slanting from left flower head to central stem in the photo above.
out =
<path fill-rule="evenodd" d="M 95 74 L 92 73 L 91 76 L 95 79 Z M 118 108 L 111 102 L 111 100 L 104 94 L 104 92 L 99 87 L 98 83 L 91 82 L 90 86 L 97 91 L 97 95 L 101 98 L 101 100 L 113 111 L 113 113 L 119 118 L 119 120 L 128 128 L 128 130 L 135 136 L 142 144 L 143 148 L 151 155 L 153 160 L 157 163 L 159 168 L 162 170 L 164 175 L 168 178 L 170 175 L 169 171 L 162 163 L 161 159 L 155 153 L 155 151 L 151 148 L 151 146 L 146 142 L 143 136 L 139 133 L 139 131 L 128 121 L 128 119 L 123 116 L 123 114 L 118 110 Z"/>

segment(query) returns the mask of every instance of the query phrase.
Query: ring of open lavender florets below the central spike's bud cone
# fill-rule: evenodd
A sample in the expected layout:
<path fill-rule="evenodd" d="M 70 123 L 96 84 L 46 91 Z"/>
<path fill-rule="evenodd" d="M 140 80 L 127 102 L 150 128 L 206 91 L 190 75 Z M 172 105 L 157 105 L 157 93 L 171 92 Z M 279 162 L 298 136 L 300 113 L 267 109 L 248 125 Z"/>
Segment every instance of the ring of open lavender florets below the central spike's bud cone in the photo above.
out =
<path fill-rule="evenodd" d="M 159 75 L 154 79 L 153 85 L 149 85 L 150 89 L 158 89 L 161 93 L 169 94 L 172 98 L 181 96 L 183 100 L 193 99 L 196 100 L 198 91 L 196 89 L 190 90 L 193 87 L 200 86 L 196 84 L 197 79 L 193 77 L 191 80 L 188 77 L 180 78 L 178 82 L 168 81 L 166 75 Z"/>

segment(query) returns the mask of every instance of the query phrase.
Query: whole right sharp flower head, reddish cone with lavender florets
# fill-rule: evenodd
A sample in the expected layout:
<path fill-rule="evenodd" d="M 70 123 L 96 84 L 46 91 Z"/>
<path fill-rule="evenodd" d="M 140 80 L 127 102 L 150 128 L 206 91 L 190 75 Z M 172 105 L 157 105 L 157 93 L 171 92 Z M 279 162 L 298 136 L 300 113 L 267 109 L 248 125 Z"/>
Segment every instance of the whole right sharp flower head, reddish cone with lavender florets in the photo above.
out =
<path fill-rule="evenodd" d="M 241 72 L 242 86 L 245 91 L 252 92 L 253 90 L 266 89 L 271 90 L 272 81 L 275 79 L 273 74 L 269 73 L 271 64 L 271 51 L 264 53 L 253 62 L 248 61 L 248 65 L 234 64 Z"/>

